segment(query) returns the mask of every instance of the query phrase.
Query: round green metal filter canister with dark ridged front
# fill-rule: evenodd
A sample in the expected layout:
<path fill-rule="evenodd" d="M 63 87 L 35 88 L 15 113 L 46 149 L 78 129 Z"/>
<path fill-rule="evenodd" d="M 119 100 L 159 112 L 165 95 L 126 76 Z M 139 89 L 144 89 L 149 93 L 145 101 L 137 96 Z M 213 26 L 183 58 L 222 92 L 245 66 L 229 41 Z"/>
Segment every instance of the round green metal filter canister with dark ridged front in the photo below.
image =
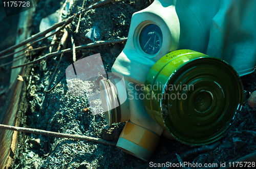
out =
<path fill-rule="evenodd" d="M 192 50 L 162 57 L 148 73 L 148 114 L 177 140 L 203 145 L 221 138 L 243 104 L 240 76 L 228 63 Z"/>

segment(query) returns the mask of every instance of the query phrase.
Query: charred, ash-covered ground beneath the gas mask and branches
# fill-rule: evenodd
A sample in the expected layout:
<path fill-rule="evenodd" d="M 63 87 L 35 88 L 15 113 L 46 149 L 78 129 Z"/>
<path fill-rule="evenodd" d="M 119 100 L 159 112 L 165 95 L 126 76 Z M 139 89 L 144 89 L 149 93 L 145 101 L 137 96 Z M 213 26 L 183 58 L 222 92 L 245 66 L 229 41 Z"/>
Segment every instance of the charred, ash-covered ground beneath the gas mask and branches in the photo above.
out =
<path fill-rule="evenodd" d="M 88 7 L 94 2 L 85 1 L 84 6 Z M 146 8 L 151 3 L 152 1 L 142 0 L 114 1 L 84 13 L 81 17 L 79 32 L 77 34 L 73 33 L 76 46 L 92 43 L 92 40 L 88 39 L 86 34 L 95 25 L 101 30 L 101 40 L 127 37 L 132 14 Z M 63 1 L 41 1 L 36 6 L 36 12 L 33 16 L 32 34 L 39 32 L 40 20 L 55 12 L 62 4 Z M 75 1 L 70 15 L 80 10 L 79 7 L 81 6 L 82 1 Z M 8 22 L 8 19 L 5 21 Z M 71 24 L 73 32 L 77 22 L 78 18 L 75 18 Z M 1 27 L 1 29 L 5 28 Z M 7 35 L 1 35 L 0 37 L 3 39 L 6 38 L 5 36 Z M 58 34 L 59 39 L 61 36 L 61 33 Z M 50 43 L 50 40 L 45 40 L 40 45 Z M 100 53 L 104 68 L 106 72 L 109 72 L 124 45 L 124 43 L 116 43 L 91 47 L 76 52 L 76 57 L 80 58 Z M 67 48 L 69 47 L 72 47 L 70 37 L 67 43 Z M 54 50 L 56 50 L 56 47 L 54 47 Z M 48 52 L 48 50 L 35 52 L 32 59 Z M 63 55 L 54 82 L 51 85 L 52 87 L 57 82 L 55 88 L 48 94 L 44 92 L 49 85 L 59 59 L 60 55 L 57 55 L 47 59 L 46 62 L 42 61 L 32 65 L 30 75 L 24 77 L 27 79 L 24 83 L 27 85 L 26 99 L 29 108 L 25 110 L 23 127 L 100 137 L 116 143 L 124 124 L 120 123 L 108 128 L 102 114 L 92 116 L 90 110 L 83 111 L 87 107 L 90 109 L 87 97 L 73 96 L 69 93 L 66 76 L 62 77 L 62 75 L 65 74 L 66 68 L 73 63 L 72 52 Z M 9 76 L 4 72 L 10 70 L 10 67 L 11 65 L 0 68 L 0 74 L 3 74 L 3 80 L 0 81 L 0 91 L 8 87 L 6 81 L 9 80 Z M 242 132 L 242 130 L 256 131 L 256 110 L 247 107 L 250 93 L 256 90 L 255 79 L 256 72 L 242 77 L 247 97 L 241 111 L 238 111 L 235 115 L 231 129 L 219 140 L 220 145 L 209 151 L 194 151 L 193 155 L 190 154 L 182 158 L 183 161 L 220 164 L 237 160 L 256 151 L 255 135 Z M 4 97 L 7 94 L 8 92 L 2 94 L 0 99 L 5 99 Z M 20 133 L 20 137 L 22 139 L 20 139 L 13 168 L 147 168 L 150 166 L 149 162 L 144 162 L 114 146 L 38 134 Z M 186 146 L 177 140 L 161 137 L 157 150 L 150 161 L 172 161 L 177 159 L 174 152 L 183 157 L 182 153 L 196 148 L 198 147 Z M 205 147 L 199 148 L 204 149 Z"/>

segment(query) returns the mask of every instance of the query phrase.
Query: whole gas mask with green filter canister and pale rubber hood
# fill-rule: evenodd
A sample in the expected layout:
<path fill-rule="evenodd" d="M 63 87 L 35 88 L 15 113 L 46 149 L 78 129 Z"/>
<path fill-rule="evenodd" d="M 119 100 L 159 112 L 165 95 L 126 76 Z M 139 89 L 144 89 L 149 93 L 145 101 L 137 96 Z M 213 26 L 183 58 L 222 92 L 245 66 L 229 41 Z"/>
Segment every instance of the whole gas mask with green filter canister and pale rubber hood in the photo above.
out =
<path fill-rule="evenodd" d="M 118 148 L 147 161 L 162 134 L 191 146 L 225 134 L 256 63 L 255 3 L 155 0 L 133 14 L 99 82 L 108 125 L 126 122 Z"/>

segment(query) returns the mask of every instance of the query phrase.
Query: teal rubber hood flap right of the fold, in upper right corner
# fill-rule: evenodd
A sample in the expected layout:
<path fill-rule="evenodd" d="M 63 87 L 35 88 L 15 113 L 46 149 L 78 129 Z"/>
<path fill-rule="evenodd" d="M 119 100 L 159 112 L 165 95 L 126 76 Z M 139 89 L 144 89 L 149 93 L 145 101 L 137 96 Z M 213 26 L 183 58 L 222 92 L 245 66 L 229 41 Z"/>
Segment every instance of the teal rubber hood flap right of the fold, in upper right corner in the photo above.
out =
<path fill-rule="evenodd" d="M 256 65 L 256 1 L 222 0 L 211 21 L 207 55 L 223 59 L 240 76 Z"/>

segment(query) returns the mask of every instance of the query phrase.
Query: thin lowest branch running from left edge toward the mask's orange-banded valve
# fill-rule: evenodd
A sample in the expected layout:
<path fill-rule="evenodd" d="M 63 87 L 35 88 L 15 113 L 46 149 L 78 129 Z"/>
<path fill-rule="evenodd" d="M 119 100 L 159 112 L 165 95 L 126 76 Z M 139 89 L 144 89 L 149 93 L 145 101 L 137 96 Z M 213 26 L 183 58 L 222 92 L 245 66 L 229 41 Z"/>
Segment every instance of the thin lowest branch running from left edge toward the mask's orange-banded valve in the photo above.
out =
<path fill-rule="evenodd" d="M 0 124 L 0 128 L 1 129 L 6 129 L 6 130 L 28 132 L 28 133 L 33 133 L 33 134 L 49 135 L 49 136 L 61 137 L 61 138 L 73 138 L 73 139 L 87 140 L 89 142 L 96 142 L 96 143 L 100 143 L 100 144 L 116 146 L 116 144 L 108 142 L 104 139 L 90 137 L 90 136 L 75 135 L 75 134 L 64 134 L 64 133 L 58 133 L 58 132 L 52 132 L 52 131 L 46 131 L 46 130 L 39 130 L 39 129 L 33 129 L 33 128 L 9 126 L 9 125 L 4 125 L 4 124 Z"/>

